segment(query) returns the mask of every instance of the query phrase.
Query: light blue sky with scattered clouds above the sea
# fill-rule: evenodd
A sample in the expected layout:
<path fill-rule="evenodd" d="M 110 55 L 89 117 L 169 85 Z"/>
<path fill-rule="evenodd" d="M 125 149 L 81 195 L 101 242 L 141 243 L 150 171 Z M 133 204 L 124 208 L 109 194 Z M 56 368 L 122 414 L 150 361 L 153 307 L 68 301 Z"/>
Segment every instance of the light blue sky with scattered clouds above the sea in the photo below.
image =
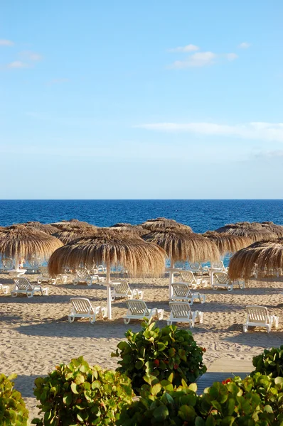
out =
<path fill-rule="evenodd" d="M 282 0 L 0 5 L 0 198 L 282 199 Z"/>

